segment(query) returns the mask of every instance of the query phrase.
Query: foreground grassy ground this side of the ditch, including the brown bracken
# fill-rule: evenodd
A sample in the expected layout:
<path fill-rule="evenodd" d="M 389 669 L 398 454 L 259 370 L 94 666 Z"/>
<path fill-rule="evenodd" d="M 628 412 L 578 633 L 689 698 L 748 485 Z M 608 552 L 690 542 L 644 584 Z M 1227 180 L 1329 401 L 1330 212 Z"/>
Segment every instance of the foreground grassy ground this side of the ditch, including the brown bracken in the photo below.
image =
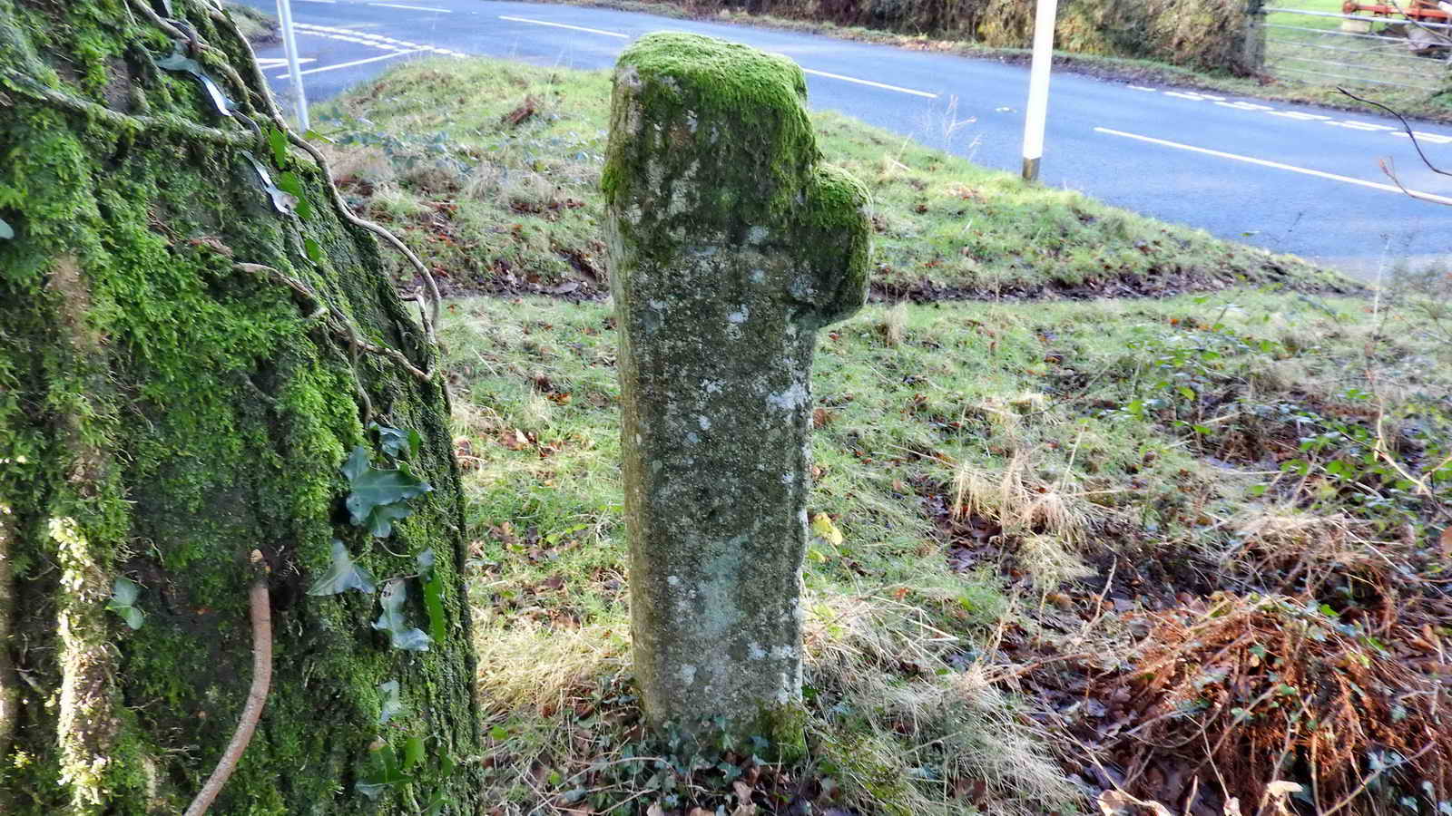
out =
<path fill-rule="evenodd" d="M 452 303 L 489 800 L 1027 815 L 1119 784 L 1221 813 L 1214 762 L 1243 801 L 1314 778 L 1429 812 L 1452 335 L 1422 303 L 900 303 L 825 332 L 791 767 L 642 730 L 610 308 Z"/>

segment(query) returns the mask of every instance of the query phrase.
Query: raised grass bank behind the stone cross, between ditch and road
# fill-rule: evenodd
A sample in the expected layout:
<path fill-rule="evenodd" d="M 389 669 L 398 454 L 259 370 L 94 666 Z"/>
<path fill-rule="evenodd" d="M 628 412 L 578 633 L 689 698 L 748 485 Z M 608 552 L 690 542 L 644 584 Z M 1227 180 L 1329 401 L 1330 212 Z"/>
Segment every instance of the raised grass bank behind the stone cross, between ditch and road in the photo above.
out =
<path fill-rule="evenodd" d="M 608 96 L 605 73 L 430 61 L 354 89 L 317 119 L 338 142 L 344 193 L 444 270 L 446 289 L 598 292 L 608 274 L 598 192 Z M 511 123 L 513 112 L 529 115 Z M 890 296 L 1346 285 L 1289 256 L 932 150 L 971 145 L 955 100 L 918 123 L 916 142 L 831 112 L 813 121 L 828 161 L 871 189 L 873 282 Z"/>

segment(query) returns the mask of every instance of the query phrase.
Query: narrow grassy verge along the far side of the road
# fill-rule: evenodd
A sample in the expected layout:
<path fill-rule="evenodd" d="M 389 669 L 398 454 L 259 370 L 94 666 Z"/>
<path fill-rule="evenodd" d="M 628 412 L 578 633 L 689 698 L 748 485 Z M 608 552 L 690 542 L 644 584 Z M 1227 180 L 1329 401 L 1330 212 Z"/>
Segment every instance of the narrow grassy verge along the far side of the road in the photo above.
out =
<path fill-rule="evenodd" d="M 877 42 L 883 45 L 896 45 L 899 48 L 910 48 L 918 51 L 941 51 L 945 54 L 957 54 L 960 57 L 968 57 L 974 60 L 996 60 L 1000 62 L 1028 64 L 1029 58 L 1028 51 L 1021 48 L 995 48 L 970 41 L 957 41 L 950 38 L 935 38 L 926 35 L 902 35 L 862 26 L 839 26 L 829 22 L 793 20 L 786 17 L 774 17 L 770 15 L 752 15 L 743 10 L 697 15 L 669 1 L 650 1 L 650 0 L 543 0 L 543 1 L 563 3 L 574 6 L 594 6 L 604 9 L 621 9 L 626 12 L 643 12 L 648 15 L 664 15 L 671 17 L 700 19 L 700 20 L 723 22 L 723 23 L 739 23 L 739 25 L 762 26 L 762 28 L 775 28 L 783 30 L 800 30 L 806 33 L 819 33 L 825 36 L 836 36 L 858 42 Z M 1300 0 L 1300 3 L 1295 3 L 1292 7 L 1307 7 L 1311 10 L 1333 10 L 1327 9 L 1326 6 L 1327 0 Z M 1333 6 L 1334 10 L 1337 12 L 1340 10 L 1340 3 L 1330 3 L 1330 6 Z M 1272 20 L 1275 20 L 1276 17 L 1278 16 L 1272 16 Z M 1281 15 L 1279 17 L 1285 19 L 1288 16 Z M 1301 19 L 1297 25 L 1305 25 L 1305 20 Z M 1320 25 L 1324 25 L 1324 22 Z M 1336 28 L 1336 20 L 1330 20 L 1330 25 L 1326 28 Z M 1195 71 L 1191 68 L 1183 68 L 1150 60 L 1125 60 L 1115 57 L 1101 57 L 1093 54 L 1073 54 L 1064 51 L 1054 54 L 1054 68 L 1063 71 L 1073 71 L 1079 74 L 1088 74 L 1093 77 L 1117 78 L 1137 84 L 1173 86 L 1173 87 L 1195 89 L 1195 90 L 1210 90 L 1210 91 L 1220 91 L 1252 99 L 1320 105 L 1340 110 L 1359 110 L 1363 113 L 1374 113 L 1374 115 L 1385 113 L 1384 110 L 1379 110 L 1374 106 L 1362 105 L 1353 99 L 1349 99 L 1347 96 L 1336 90 L 1334 83 L 1327 84 L 1324 81 L 1321 83 L 1298 81 L 1297 78 L 1269 77 L 1269 76 L 1234 77 L 1230 76 L 1228 73 Z M 1376 84 L 1356 86 L 1352 90 L 1356 91 L 1358 96 L 1369 96 L 1371 99 L 1381 102 L 1382 105 L 1388 105 L 1413 119 L 1426 119 L 1432 122 L 1452 122 L 1452 93 L 1433 93 L 1433 91 L 1400 89 L 1392 86 L 1376 86 Z"/>

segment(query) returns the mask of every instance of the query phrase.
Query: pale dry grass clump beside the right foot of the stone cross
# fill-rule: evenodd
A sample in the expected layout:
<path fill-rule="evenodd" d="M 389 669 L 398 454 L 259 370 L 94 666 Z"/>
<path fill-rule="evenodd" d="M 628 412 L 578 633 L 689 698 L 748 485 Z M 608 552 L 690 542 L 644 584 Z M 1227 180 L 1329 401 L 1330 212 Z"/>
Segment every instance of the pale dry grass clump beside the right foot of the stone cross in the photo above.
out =
<path fill-rule="evenodd" d="M 809 723 L 825 758 L 860 791 L 844 804 L 915 816 L 970 806 L 1024 816 L 1073 809 L 1077 790 L 1047 751 L 1043 729 L 1005 693 L 1000 672 L 984 664 L 950 668 L 960 642 L 921 607 L 833 595 L 816 598 L 810 610 L 810 682 L 854 711 L 841 730 L 831 717 Z M 905 784 L 922 768 L 937 774 L 932 784 Z M 896 784 L 884 791 L 884 780 Z M 862 796 L 873 790 L 881 793 Z"/>

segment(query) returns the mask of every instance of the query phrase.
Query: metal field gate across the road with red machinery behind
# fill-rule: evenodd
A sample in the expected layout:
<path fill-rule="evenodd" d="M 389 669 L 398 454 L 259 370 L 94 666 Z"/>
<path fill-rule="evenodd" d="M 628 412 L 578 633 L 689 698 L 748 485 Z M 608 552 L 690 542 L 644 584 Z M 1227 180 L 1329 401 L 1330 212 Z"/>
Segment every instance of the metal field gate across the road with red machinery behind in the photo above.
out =
<path fill-rule="evenodd" d="M 1314 84 L 1391 86 L 1429 94 L 1452 86 L 1452 23 L 1305 9 L 1265 7 L 1263 12 L 1269 16 L 1259 23 L 1265 36 L 1265 71 L 1273 77 Z M 1334 20 L 1342 20 L 1340 26 Z"/>

